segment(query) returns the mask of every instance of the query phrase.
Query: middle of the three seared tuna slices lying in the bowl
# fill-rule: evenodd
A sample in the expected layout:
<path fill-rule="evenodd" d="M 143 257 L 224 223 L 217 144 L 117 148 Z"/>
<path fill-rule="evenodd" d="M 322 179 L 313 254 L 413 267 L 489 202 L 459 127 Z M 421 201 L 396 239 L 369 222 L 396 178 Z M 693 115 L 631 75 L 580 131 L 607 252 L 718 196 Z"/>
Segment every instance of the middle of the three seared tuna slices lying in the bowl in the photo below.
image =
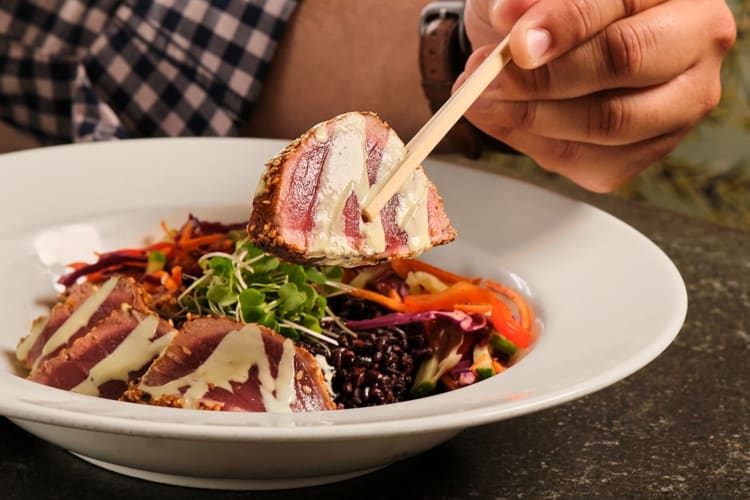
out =
<path fill-rule="evenodd" d="M 155 314 L 124 306 L 70 347 L 39 364 L 30 380 L 91 396 L 119 399 L 161 356 L 177 331 Z"/>

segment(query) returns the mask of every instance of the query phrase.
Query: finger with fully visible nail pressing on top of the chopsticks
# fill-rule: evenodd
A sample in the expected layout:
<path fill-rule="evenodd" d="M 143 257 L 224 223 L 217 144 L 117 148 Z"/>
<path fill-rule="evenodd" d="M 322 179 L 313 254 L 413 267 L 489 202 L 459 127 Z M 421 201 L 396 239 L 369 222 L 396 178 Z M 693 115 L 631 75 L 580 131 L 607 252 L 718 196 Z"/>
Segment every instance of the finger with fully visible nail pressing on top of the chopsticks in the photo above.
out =
<path fill-rule="evenodd" d="M 540 0 L 511 30 L 516 65 L 534 69 L 585 42 L 604 28 L 666 0 Z"/>

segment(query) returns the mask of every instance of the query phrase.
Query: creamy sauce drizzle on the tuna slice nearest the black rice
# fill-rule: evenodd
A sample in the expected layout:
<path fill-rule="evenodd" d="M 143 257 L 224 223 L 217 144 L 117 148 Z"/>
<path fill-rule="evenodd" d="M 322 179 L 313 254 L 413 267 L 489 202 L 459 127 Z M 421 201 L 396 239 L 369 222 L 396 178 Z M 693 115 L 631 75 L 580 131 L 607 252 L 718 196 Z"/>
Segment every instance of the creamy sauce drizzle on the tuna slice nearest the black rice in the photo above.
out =
<path fill-rule="evenodd" d="M 211 387 L 221 387 L 231 392 L 230 382 L 247 382 L 253 366 L 258 367 L 260 392 L 266 411 L 291 412 L 291 405 L 297 396 L 294 389 L 294 343 L 284 339 L 277 377 L 274 378 L 263 336 L 255 325 L 246 325 L 227 333 L 195 371 L 160 386 L 141 382 L 139 389 L 158 399 L 179 394 L 181 387 L 188 387 L 182 395 L 183 407 L 198 408 Z"/>

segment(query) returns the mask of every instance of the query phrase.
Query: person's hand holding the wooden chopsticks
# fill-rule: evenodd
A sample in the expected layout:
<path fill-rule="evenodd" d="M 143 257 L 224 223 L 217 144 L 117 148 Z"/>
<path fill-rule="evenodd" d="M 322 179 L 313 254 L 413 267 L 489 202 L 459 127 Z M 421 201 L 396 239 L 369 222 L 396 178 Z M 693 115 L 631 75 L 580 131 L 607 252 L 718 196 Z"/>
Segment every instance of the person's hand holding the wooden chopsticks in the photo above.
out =
<path fill-rule="evenodd" d="M 513 61 L 466 113 L 485 133 L 607 192 L 672 151 L 719 102 L 736 26 L 723 0 L 468 0 L 475 52 Z"/>

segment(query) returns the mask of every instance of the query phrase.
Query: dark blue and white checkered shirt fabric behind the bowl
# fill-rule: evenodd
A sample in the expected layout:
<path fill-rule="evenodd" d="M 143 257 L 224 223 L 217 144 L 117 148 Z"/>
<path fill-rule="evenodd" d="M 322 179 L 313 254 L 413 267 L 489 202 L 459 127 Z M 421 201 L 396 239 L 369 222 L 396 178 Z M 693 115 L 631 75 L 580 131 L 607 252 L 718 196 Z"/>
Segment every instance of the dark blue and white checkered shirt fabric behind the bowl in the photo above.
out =
<path fill-rule="evenodd" d="M 45 144 L 237 135 L 296 4 L 2 0 L 0 120 Z"/>

